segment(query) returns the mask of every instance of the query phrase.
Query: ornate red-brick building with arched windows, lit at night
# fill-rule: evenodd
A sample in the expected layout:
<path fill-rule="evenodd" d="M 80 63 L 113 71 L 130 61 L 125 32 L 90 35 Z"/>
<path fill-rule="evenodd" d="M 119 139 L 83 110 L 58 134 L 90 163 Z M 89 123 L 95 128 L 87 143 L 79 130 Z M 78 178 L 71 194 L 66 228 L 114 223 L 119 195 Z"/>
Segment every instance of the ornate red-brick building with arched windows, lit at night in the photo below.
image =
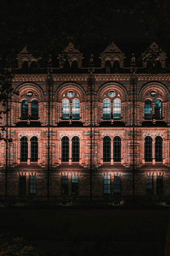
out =
<path fill-rule="evenodd" d="M 1 195 L 170 195 L 170 74 L 149 74 L 133 50 L 97 47 L 70 43 L 48 74 L 26 47 L 17 55 L 19 95 L 0 119 L 13 139 L 0 142 Z"/>

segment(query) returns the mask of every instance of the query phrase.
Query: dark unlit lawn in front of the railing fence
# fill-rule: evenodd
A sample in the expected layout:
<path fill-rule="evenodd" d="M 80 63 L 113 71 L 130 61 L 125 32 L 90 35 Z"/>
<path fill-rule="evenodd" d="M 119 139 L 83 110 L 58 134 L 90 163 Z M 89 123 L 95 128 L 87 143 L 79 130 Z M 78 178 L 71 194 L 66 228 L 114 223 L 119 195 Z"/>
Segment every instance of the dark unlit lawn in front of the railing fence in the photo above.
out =
<path fill-rule="evenodd" d="M 97 255 L 163 255 L 169 209 L 0 209 L 1 233 L 12 230 L 42 250 L 79 248 Z M 86 255 L 91 255 L 87 253 Z M 74 254 L 75 255 L 75 254 Z M 83 254 L 85 255 L 85 254 Z"/>

